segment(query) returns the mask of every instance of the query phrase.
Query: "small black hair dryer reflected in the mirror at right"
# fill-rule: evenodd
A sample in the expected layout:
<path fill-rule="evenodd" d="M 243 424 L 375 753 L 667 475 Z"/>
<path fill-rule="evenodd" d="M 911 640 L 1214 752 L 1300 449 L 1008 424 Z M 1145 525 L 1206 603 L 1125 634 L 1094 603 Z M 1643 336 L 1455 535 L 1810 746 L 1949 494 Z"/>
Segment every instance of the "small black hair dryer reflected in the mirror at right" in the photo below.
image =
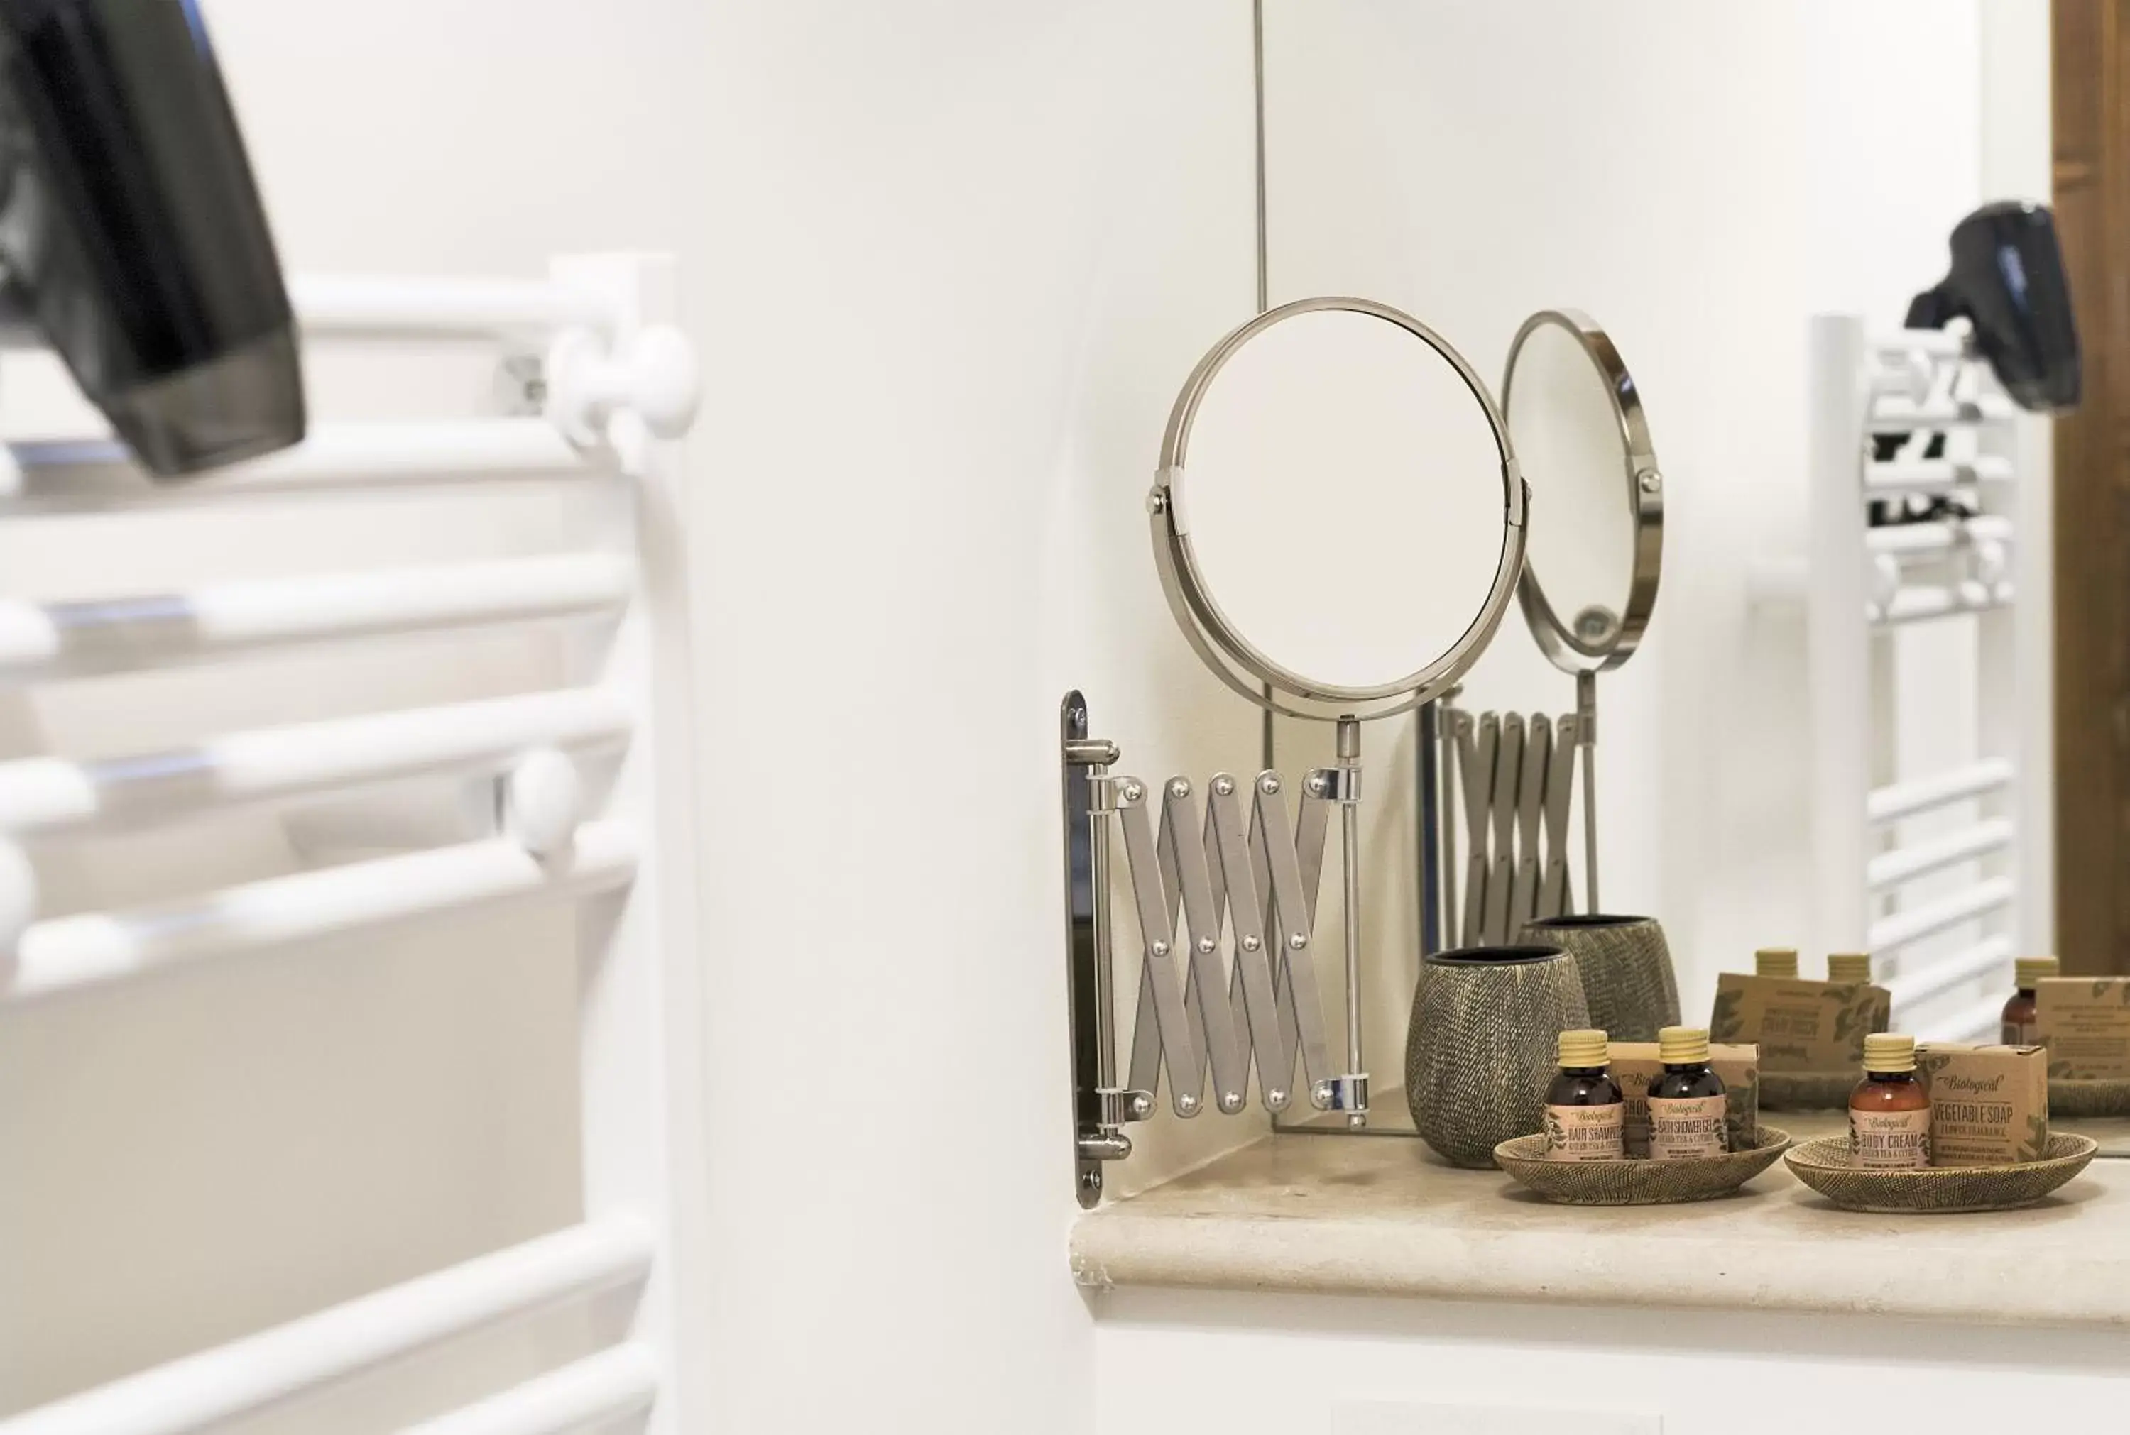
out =
<path fill-rule="evenodd" d="M 1953 226 L 1953 266 L 1908 304 L 1908 328 L 1975 326 L 1975 347 L 2021 409 L 2079 402 L 2079 326 L 2047 204 L 2000 200 Z"/>

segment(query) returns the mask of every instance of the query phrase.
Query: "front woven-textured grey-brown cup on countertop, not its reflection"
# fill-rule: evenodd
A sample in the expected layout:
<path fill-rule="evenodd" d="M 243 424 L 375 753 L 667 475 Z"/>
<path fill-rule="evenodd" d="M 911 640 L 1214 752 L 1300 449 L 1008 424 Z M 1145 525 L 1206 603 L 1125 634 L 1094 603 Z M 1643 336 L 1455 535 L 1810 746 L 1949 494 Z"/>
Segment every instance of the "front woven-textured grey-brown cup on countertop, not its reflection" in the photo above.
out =
<path fill-rule="evenodd" d="M 1576 960 L 1559 947 L 1463 947 L 1421 962 L 1406 1028 L 1406 1105 L 1459 1167 L 1538 1131 L 1557 1039 L 1589 1026 Z"/>

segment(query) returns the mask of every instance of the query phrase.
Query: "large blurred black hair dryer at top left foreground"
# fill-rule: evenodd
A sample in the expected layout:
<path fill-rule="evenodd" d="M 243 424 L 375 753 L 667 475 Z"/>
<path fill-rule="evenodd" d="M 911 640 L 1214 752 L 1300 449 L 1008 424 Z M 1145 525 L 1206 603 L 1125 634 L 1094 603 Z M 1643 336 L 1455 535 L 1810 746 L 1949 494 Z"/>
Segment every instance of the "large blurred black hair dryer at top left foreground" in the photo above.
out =
<path fill-rule="evenodd" d="M 0 304 L 158 477 L 302 439 L 296 321 L 194 0 L 0 0 Z"/>

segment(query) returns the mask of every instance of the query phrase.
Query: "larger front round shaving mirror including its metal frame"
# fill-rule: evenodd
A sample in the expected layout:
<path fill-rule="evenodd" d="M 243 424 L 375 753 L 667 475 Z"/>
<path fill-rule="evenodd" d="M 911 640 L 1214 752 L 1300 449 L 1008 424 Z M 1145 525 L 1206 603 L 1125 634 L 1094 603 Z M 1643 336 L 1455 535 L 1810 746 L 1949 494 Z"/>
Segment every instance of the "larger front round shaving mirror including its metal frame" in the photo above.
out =
<path fill-rule="evenodd" d="M 1223 339 L 1178 396 L 1154 558 L 1231 688 L 1299 718 L 1382 718 L 1493 637 L 1523 505 L 1508 432 L 1455 349 L 1384 304 L 1310 298 Z"/>

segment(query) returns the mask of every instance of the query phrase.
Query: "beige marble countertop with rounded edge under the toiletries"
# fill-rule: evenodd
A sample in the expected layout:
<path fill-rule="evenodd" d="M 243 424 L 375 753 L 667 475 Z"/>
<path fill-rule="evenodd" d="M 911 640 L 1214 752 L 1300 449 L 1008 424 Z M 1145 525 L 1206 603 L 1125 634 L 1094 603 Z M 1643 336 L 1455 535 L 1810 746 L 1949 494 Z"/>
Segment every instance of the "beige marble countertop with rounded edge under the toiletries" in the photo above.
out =
<path fill-rule="evenodd" d="M 1793 1137 L 1815 1118 L 1768 1114 Z M 1828 1118 L 1838 1120 L 1838 1118 Z M 2024 1211 L 1862 1216 L 1776 1167 L 1723 1201 L 1549 1205 L 1399 1137 L 1274 1135 L 1080 1216 L 1082 1286 L 2130 1326 L 2130 1160 Z"/>

